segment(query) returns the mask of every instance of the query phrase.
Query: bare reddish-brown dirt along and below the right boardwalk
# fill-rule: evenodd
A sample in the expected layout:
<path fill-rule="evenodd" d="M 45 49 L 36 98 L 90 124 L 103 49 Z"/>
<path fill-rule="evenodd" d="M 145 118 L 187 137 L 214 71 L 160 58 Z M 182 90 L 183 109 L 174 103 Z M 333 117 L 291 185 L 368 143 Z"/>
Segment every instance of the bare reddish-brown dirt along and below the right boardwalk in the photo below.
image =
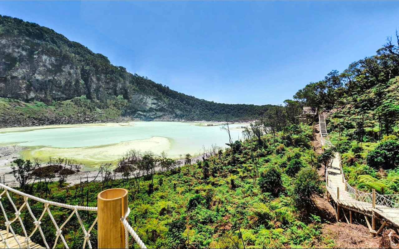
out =
<path fill-rule="evenodd" d="M 317 154 L 322 153 L 322 145 L 320 142 L 319 125 L 316 124 L 314 129 L 314 140 L 311 141 L 314 151 Z M 318 173 L 324 181 L 324 166 Z M 380 248 L 381 236 L 373 237 L 368 228 L 362 224 L 347 224 L 344 222 L 336 222 L 336 213 L 332 205 L 327 201 L 327 195 L 315 198 L 316 214 L 323 221 L 322 233 L 326 239 L 334 241 L 334 248 Z M 327 245 L 319 245 L 318 247 L 326 247 Z"/>

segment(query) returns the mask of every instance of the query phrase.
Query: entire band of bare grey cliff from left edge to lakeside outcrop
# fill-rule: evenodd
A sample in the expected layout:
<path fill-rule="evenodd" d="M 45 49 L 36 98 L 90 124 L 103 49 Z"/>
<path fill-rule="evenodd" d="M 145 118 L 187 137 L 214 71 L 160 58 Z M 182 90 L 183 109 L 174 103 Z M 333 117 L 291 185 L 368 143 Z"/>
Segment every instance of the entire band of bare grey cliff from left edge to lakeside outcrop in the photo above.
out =
<path fill-rule="evenodd" d="M 29 37 L 3 35 L 0 44 L 2 97 L 49 104 L 82 95 L 100 102 L 122 95 L 130 101 L 128 113 L 133 117 L 176 118 L 164 101 L 135 90 L 129 84 L 134 76 L 123 69 L 122 77 L 112 78 L 77 56 Z"/>

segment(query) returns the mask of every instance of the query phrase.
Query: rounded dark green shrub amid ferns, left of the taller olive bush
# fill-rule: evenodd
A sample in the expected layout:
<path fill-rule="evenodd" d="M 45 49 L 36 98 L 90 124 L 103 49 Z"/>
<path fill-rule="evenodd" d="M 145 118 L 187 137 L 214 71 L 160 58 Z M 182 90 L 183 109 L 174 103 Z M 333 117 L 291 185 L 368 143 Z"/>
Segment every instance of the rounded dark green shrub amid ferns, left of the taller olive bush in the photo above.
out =
<path fill-rule="evenodd" d="M 278 196 L 283 189 L 280 168 L 275 165 L 269 165 L 261 173 L 258 184 L 262 192 L 269 192 L 273 194 L 273 196 Z"/>

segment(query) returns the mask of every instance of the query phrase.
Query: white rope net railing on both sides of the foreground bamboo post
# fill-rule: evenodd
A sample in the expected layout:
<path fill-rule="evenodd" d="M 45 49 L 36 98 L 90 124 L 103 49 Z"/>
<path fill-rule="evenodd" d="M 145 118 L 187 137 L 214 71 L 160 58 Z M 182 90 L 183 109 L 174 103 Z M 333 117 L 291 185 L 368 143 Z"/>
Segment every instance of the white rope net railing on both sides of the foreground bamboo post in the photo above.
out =
<path fill-rule="evenodd" d="M 55 248 L 60 243 L 67 249 L 97 247 L 97 207 L 53 202 L 0 183 L 0 209 L 0 229 L 5 231 L 0 233 L 0 248 L 12 248 L 16 244 L 19 248 L 31 248 L 35 244 Z M 129 214 L 130 209 L 120 219 L 125 227 L 125 248 L 129 247 L 129 234 L 140 248 L 146 248 L 129 225 Z M 56 218 L 63 222 L 57 223 Z"/>

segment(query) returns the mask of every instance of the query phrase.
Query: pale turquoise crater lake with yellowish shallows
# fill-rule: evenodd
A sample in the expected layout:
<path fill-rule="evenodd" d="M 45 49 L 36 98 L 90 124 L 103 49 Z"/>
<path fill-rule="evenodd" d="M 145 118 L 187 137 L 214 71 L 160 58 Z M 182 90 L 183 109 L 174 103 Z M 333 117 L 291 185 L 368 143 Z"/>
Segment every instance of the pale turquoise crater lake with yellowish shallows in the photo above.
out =
<path fill-rule="evenodd" d="M 242 137 L 243 124 L 231 124 L 231 137 Z M 229 137 L 221 126 L 180 122 L 51 125 L 0 129 L 0 144 L 27 146 L 25 158 L 68 157 L 102 162 L 118 159 L 130 149 L 165 151 L 169 157 L 202 153 L 212 144 L 226 147 Z"/>

